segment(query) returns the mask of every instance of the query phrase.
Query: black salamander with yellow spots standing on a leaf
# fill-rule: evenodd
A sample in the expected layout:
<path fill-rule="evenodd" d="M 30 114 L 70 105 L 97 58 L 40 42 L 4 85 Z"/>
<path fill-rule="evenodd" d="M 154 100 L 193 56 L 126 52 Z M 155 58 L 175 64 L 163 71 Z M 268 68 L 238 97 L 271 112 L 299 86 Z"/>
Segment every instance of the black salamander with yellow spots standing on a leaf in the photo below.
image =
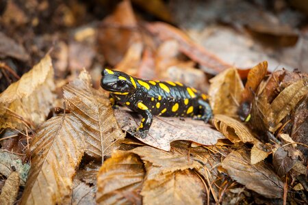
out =
<path fill-rule="evenodd" d="M 142 115 L 136 129 L 138 137 L 146 137 L 153 115 L 194 116 L 205 122 L 212 117 L 207 96 L 193 87 L 179 82 L 145 81 L 107 68 L 101 74 L 101 87 L 110 92 L 112 105 L 125 105 Z"/>

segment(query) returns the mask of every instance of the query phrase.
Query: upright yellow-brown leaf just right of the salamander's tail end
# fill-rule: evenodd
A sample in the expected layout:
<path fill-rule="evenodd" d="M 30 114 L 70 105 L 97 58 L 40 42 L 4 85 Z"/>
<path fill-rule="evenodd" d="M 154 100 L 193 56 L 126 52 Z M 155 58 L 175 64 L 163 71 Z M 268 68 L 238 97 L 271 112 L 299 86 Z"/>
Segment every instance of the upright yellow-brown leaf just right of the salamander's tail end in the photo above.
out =
<path fill-rule="evenodd" d="M 229 68 L 212 78 L 209 86 L 211 109 L 214 114 L 237 116 L 244 86 L 238 70 Z"/>

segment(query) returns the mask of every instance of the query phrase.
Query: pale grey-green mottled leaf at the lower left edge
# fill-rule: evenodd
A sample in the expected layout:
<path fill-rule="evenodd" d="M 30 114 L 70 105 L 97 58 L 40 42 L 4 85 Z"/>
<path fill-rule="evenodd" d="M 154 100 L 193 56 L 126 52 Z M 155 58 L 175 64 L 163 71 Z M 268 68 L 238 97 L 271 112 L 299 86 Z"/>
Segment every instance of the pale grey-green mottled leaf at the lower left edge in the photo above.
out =
<path fill-rule="evenodd" d="M 19 174 L 21 185 L 25 186 L 30 165 L 23 164 L 22 156 L 0 150 L 0 173 L 8 178 L 12 173 L 10 167 L 15 167 L 16 172 Z"/>

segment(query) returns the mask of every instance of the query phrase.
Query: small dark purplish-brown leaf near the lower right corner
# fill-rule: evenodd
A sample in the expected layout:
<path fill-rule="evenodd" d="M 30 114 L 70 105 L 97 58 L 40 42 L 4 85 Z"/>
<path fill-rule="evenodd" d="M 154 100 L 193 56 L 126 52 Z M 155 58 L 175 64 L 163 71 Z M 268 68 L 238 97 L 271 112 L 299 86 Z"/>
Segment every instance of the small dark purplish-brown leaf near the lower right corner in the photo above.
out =
<path fill-rule="evenodd" d="M 292 157 L 288 156 L 287 151 L 285 151 L 283 147 L 279 147 L 278 150 L 274 152 L 272 164 L 274 165 L 276 173 L 279 176 L 284 176 L 294 167 L 296 161 L 297 159 L 292 159 Z"/>

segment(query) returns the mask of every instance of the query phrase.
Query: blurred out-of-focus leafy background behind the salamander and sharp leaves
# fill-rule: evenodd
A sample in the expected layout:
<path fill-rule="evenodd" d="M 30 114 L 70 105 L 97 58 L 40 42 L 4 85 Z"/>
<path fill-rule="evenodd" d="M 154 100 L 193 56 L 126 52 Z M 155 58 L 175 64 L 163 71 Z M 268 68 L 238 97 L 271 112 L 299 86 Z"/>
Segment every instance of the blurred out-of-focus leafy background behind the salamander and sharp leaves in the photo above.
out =
<path fill-rule="evenodd" d="M 0 0 L 0 92 L 47 53 L 58 87 L 83 68 L 94 87 L 110 67 L 201 90 L 264 60 L 307 72 L 307 16 L 308 0 Z"/>

